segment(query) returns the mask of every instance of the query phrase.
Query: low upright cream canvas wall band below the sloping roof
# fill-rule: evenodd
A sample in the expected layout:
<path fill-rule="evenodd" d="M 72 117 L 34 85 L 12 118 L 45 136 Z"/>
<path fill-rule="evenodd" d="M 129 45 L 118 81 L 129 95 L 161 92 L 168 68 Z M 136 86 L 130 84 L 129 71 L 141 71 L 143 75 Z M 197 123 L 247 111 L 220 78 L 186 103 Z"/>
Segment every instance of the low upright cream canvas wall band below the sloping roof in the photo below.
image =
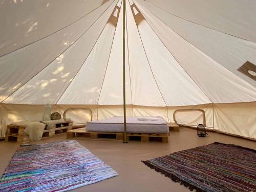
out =
<path fill-rule="evenodd" d="M 4 137 L 7 124 L 22 120 L 40 121 L 44 111 L 44 105 L 2 104 L 1 108 L 2 137 Z M 123 114 L 122 105 L 53 105 L 52 111 L 58 111 L 63 115 L 63 112 L 69 108 L 90 108 L 93 112 L 94 120 L 122 116 Z M 212 104 L 173 106 L 168 107 L 167 116 L 165 107 L 128 105 L 126 112 L 127 116 L 162 116 L 167 121 L 173 121 L 173 113 L 176 110 L 201 109 L 205 111 L 206 126 L 209 129 L 255 139 L 255 108 L 256 102 L 214 104 L 214 108 L 212 108 Z M 84 123 L 91 118 L 88 111 L 80 110 L 78 113 L 67 114 L 67 117 L 72 118 L 74 123 Z M 187 115 L 184 114 L 180 116 L 180 119 L 184 121 L 179 123 L 188 125 L 200 123 L 198 116 L 188 119 Z"/>

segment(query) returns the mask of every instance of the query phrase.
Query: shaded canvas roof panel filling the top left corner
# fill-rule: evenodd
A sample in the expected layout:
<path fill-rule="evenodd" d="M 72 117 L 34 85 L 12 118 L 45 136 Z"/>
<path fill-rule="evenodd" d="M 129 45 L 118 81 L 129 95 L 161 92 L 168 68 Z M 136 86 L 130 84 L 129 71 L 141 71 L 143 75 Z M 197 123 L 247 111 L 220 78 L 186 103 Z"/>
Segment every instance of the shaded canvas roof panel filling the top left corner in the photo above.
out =
<path fill-rule="evenodd" d="M 0 56 L 67 28 L 102 3 L 102 0 L 1 1 Z"/>

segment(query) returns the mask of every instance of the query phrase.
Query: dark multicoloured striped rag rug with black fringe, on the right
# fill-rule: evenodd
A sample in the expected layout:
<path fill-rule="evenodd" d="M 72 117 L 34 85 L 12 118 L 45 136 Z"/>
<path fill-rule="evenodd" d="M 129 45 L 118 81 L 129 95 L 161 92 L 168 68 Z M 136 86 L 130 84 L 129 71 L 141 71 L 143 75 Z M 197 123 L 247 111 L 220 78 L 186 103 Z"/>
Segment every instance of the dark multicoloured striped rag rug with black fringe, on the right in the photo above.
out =
<path fill-rule="evenodd" d="M 197 191 L 256 191 L 256 151 L 212 143 L 142 161 L 175 182 Z"/>

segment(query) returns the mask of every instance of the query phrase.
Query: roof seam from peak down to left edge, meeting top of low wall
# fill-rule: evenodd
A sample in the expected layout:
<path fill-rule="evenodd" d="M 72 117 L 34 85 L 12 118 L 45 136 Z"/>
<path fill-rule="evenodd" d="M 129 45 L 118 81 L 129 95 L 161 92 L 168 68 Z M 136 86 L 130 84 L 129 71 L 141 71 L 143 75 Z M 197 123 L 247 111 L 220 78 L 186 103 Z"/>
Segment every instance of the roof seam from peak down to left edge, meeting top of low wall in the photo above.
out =
<path fill-rule="evenodd" d="M 115 2 L 116 0 L 113 1 L 113 3 Z M 110 6 L 113 4 L 111 3 Z M 110 6 L 108 8 L 106 8 L 106 10 L 108 10 L 110 8 Z M 105 11 L 106 11 L 105 10 Z M 9 96 L 7 96 L 4 100 L 2 100 L 0 103 L 4 103 L 4 101 L 6 99 L 8 99 L 10 96 L 12 96 L 16 91 L 18 91 L 20 88 L 22 88 L 23 86 L 25 86 L 25 84 L 27 84 L 31 79 L 33 79 L 36 75 L 38 75 L 42 70 L 46 69 L 48 66 L 51 65 L 51 63 L 56 59 L 58 58 L 61 54 L 63 54 L 64 52 L 66 52 L 69 48 L 71 48 L 75 42 L 77 42 L 84 34 L 86 34 L 86 32 L 97 22 L 97 20 L 103 15 L 103 13 L 105 13 L 105 11 L 102 12 L 102 14 L 99 15 L 99 17 L 93 22 L 93 24 L 86 30 L 84 31 L 84 33 L 82 33 L 74 42 L 73 44 L 71 44 L 69 47 L 67 47 L 67 49 L 65 49 L 64 51 L 62 51 L 59 55 L 57 55 L 57 57 L 55 57 L 53 60 L 51 60 L 51 62 L 48 63 L 48 65 L 46 65 L 44 68 L 42 68 L 39 72 L 37 72 L 34 76 L 32 76 L 30 79 L 28 79 L 25 83 L 23 83 L 22 86 L 20 86 L 18 89 L 16 89 L 15 91 L 13 91 Z"/>

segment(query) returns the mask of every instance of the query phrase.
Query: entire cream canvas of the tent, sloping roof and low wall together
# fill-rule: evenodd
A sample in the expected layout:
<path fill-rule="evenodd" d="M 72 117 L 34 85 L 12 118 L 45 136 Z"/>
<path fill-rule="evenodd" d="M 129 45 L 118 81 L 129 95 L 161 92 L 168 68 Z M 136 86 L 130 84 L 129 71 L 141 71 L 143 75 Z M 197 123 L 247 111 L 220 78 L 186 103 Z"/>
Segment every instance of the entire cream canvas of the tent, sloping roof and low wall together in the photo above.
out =
<path fill-rule="evenodd" d="M 256 138 L 255 10 L 242 0 L 126 1 L 127 115 L 202 109 L 208 127 Z M 12 121 L 40 120 L 46 103 L 122 116 L 122 15 L 121 0 L 2 2 L 2 136 Z"/>

